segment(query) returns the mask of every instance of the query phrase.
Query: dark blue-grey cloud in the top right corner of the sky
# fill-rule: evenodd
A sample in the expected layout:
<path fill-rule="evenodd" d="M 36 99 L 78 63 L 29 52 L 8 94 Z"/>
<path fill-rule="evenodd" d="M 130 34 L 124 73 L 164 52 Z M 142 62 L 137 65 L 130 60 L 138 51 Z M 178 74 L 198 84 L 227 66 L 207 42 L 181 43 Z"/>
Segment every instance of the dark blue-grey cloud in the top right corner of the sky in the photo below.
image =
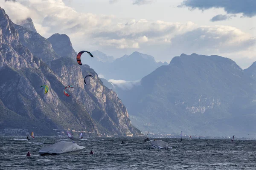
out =
<path fill-rule="evenodd" d="M 224 8 L 227 14 L 242 13 L 243 17 L 256 16 L 256 0 L 183 0 L 178 7 L 207 10 L 210 8 Z"/>

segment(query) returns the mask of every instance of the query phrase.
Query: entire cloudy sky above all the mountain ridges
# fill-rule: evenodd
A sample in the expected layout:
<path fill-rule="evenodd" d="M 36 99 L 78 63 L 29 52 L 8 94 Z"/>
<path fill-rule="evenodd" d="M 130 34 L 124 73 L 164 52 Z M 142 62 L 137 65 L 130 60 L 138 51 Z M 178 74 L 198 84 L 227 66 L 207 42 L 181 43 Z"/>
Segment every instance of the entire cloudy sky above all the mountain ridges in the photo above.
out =
<path fill-rule="evenodd" d="M 241 68 L 256 61 L 256 0 L 0 0 L 17 23 L 67 34 L 76 51 L 115 58 L 139 51 L 156 61 L 180 54 L 220 55 Z"/>

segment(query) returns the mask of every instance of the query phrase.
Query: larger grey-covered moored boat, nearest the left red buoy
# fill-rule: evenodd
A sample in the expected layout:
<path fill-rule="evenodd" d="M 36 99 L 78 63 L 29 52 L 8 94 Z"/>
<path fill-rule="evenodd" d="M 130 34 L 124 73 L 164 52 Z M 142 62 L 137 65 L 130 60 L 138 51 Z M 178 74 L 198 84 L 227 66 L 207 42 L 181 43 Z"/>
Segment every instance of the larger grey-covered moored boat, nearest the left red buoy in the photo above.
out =
<path fill-rule="evenodd" d="M 74 142 L 57 142 L 39 150 L 40 155 L 76 155 L 84 149 Z"/>

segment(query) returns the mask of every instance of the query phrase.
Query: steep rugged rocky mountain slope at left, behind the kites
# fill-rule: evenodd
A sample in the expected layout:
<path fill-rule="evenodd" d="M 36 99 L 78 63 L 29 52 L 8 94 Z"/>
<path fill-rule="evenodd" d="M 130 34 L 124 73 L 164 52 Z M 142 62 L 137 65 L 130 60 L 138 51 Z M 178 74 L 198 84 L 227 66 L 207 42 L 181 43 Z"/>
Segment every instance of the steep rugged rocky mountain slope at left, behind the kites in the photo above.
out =
<path fill-rule="evenodd" d="M 140 133 L 116 93 L 93 69 L 78 65 L 72 56 L 62 57 L 54 48 L 35 31 L 12 23 L 0 9 L 0 128 L 28 128 L 38 135 L 52 134 L 53 128 L 98 136 Z M 73 48 L 67 52 L 73 54 Z M 94 79 L 88 78 L 85 86 L 87 74 Z M 41 85 L 49 86 L 47 94 Z M 67 89 L 70 97 L 63 93 L 66 85 L 75 86 Z"/>

